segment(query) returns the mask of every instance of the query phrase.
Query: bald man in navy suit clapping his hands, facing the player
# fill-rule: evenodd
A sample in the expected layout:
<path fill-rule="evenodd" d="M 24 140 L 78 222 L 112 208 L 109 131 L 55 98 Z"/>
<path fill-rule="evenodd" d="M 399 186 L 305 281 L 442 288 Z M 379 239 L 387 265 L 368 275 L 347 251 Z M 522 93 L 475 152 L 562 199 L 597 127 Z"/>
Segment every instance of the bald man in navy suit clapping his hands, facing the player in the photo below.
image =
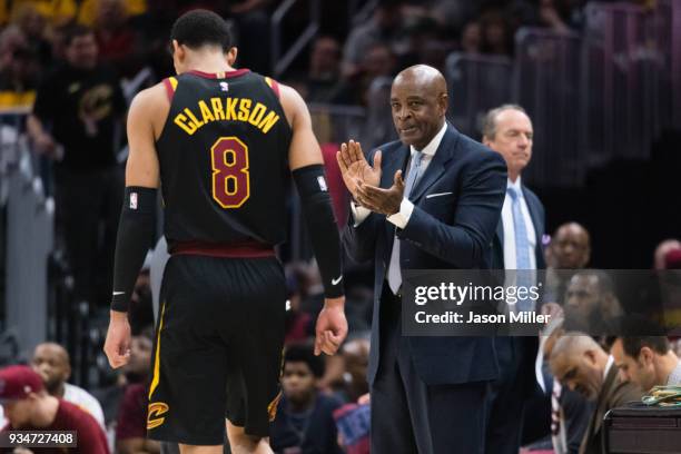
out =
<path fill-rule="evenodd" d="M 344 244 L 355 260 L 374 260 L 367 378 L 375 453 L 484 452 L 484 402 L 497 375 L 492 338 L 401 332 L 402 272 L 487 268 L 503 204 L 503 159 L 445 121 L 447 102 L 440 71 L 407 68 L 391 90 L 399 141 L 368 161 L 354 141 L 338 152 L 356 201 Z"/>

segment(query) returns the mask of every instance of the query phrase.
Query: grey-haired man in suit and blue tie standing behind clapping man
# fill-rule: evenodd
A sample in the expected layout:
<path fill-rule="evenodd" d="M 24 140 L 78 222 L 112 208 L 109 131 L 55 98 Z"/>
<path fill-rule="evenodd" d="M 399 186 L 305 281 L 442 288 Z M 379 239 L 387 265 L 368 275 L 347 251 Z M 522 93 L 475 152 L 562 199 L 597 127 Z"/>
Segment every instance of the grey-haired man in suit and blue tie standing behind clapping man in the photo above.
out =
<path fill-rule="evenodd" d="M 532 158 L 533 136 L 532 121 L 520 106 L 503 105 L 485 116 L 483 144 L 503 156 L 509 167 L 502 216 L 492 240 L 492 268 L 545 268 L 542 249 L 544 206 L 521 181 L 521 172 Z M 526 278 L 532 276 L 520 272 L 516 284 L 520 285 Z M 509 306 L 509 310 L 533 309 L 530 304 L 522 303 L 515 307 Z M 539 337 L 499 336 L 494 338 L 494 344 L 500 376 L 492 384 L 487 399 L 485 451 L 491 454 L 517 454 L 523 408 L 526 401 L 540 391 L 534 372 Z M 537 408 L 546 412 L 547 431 L 551 409 L 549 397 L 545 405 L 541 404 L 542 401 Z"/>

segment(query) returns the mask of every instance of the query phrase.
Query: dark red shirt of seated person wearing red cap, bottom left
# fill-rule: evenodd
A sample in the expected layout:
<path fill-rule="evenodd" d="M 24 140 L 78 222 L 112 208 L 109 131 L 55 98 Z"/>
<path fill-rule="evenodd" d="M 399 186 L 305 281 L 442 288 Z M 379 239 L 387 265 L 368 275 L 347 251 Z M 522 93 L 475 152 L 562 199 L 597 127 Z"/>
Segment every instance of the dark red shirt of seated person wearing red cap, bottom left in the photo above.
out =
<path fill-rule="evenodd" d="M 59 399 L 59 407 L 55 421 L 47 427 L 26 426 L 13 428 L 10 424 L 2 428 L 2 432 L 8 431 L 76 431 L 78 433 L 78 447 L 31 447 L 31 451 L 40 454 L 63 454 L 63 453 L 82 453 L 82 454 L 109 454 L 109 445 L 107 436 L 89 413 L 80 409 L 76 405 Z M 13 448 L 0 448 L 1 453 L 11 453 Z"/>

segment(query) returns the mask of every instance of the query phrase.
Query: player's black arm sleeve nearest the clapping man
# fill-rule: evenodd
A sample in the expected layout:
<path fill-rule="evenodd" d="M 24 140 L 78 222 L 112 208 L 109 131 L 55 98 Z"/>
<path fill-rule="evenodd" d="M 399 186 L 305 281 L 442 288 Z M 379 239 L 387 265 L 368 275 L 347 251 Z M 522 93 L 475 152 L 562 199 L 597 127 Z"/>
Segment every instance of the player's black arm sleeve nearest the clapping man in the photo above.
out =
<path fill-rule="evenodd" d="M 297 168 L 293 177 L 319 266 L 324 294 L 327 298 L 340 297 L 344 295 L 340 236 L 324 177 L 324 166 L 315 164 Z"/>

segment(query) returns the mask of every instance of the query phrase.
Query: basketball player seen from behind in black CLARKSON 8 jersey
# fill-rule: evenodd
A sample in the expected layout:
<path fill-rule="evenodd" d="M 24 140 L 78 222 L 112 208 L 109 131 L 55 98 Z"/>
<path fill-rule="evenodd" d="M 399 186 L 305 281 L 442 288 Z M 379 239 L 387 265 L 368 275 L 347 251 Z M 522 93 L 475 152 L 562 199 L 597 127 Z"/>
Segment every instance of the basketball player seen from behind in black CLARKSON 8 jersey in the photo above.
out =
<path fill-rule="evenodd" d="M 231 67 L 225 21 L 194 10 L 171 31 L 177 77 L 141 91 L 128 116 L 130 155 L 105 352 L 129 358 L 128 304 L 154 231 L 161 187 L 171 255 L 164 275 L 147 430 L 182 453 L 272 453 L 286 287 L 290 169 L 320 268 L 325 306 L 315 353 L 347 333 L 338 230 L 307 107 L 289 87 Z M 227 58 L 226 58 L 227 57 Z"/>

